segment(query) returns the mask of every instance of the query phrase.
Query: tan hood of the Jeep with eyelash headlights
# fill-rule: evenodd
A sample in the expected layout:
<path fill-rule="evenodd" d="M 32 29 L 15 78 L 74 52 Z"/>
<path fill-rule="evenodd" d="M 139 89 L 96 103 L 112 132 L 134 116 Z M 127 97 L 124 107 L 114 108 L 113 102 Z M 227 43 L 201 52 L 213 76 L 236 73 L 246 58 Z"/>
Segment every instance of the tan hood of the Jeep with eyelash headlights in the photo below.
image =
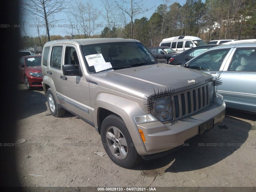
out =
<path fill-rule="evenodd" d="M 89 80 L 118 92 L 147 99 L 158 90 L 174 89 L 174 92 L 188 90 L 209 82 L 212 76 L 196 70 L 153 64 L 91 74 Z M 190 83 L 188 81 L 194 80 Z"/>

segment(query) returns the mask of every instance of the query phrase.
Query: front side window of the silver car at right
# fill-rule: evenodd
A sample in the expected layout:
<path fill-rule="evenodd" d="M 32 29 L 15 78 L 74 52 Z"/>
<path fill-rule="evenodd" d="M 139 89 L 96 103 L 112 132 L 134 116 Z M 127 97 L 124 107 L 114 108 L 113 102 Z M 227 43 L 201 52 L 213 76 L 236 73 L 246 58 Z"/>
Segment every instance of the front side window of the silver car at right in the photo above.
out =
<path fill-rule="evenodd" d="M 218 71 L 230 49 L 211 50 L 193 60 L 188 65 L 190 69 Z"/>

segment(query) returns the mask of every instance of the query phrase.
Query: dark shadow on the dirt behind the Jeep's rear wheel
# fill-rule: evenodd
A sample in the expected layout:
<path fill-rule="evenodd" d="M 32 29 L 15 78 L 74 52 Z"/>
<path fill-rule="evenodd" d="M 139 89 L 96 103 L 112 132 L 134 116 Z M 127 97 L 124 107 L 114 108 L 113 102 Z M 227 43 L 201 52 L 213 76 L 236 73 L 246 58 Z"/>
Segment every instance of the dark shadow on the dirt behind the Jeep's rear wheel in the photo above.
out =
<path fill-rule="evenodd" d="M 46 96 L 42 89 L 29 91 L 23 84 L 18 85 L 18 120 L 47 111 Z"/>

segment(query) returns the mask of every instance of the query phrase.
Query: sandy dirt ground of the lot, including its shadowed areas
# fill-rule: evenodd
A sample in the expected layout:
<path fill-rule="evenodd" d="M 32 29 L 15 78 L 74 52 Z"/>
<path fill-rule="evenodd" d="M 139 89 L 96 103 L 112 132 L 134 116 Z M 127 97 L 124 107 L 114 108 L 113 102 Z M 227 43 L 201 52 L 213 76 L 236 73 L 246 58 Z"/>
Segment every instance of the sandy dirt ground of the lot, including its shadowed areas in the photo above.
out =
<path fill-rule="evenodd" d="M 22 186 L 256 186 L 256 115 L 226 110 L 221 124 L 182 149 L 132 170 L 114 164 L 77 116 L 50 115 L 43 90 L 19 84 L 16 166 Z"/>

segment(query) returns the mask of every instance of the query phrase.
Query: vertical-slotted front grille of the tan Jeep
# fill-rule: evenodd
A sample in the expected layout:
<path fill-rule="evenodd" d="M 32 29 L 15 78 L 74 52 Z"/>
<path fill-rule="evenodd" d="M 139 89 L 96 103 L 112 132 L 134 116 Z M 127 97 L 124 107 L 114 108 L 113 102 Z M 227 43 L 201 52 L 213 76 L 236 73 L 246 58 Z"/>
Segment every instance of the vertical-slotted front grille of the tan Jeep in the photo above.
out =
<path fill-rule="evenodd" d="M 210 105 L 209 84 L 172 95 L 174 120 L 194 114 Z"/>

